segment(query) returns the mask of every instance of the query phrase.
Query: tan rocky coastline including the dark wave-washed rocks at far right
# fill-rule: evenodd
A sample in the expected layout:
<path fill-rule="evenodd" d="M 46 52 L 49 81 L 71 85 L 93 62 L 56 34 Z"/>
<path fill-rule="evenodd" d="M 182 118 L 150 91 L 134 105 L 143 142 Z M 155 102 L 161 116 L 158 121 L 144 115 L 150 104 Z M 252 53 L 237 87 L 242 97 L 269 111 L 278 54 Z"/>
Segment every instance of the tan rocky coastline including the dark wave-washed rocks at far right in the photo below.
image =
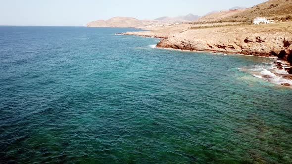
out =
<path fill-rule="evenodd" d="M 292 80 L 292 33 L 264 28 L 259 31 L 249 27 L 195 30 L 189 28 L 179 31 L 154 29 L 144 32 L 127 32 L 123 35 L 159 38 L 161 40 L 156 45 L 158 48 L 274 57 L 277 58 L 273 65 L 274 69 L 287 72 L 277 74 L 277 76 Z M 282 85 L 290 86 L 291 84 L 282 83 Z"/>

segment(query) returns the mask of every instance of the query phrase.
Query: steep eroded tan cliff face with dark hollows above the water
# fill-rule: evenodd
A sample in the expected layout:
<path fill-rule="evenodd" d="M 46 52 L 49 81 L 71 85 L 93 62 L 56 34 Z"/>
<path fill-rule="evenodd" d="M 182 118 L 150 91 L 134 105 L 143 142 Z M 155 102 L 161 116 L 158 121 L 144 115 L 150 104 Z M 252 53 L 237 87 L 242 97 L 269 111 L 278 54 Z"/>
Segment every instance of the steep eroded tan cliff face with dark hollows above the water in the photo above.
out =
<path fill-rule="evenodd" d="M 216 34 L 216 36 L 210 34 L 210 38 L 205 36 L 191 38 L 188 36 L 192 36 L 192 34 L 188 35 L 188 33 L 192 33 L 192 31 L 183 32 L 161 40 L 157 47 L 241 53 L 256 56 L 278 56 L 281 60 L 287 60 L 290 51 L 292 52 L 292 45 L 289 44 L 292 42 L 292 39 L 284 38 L 284 36 L 279 37 L 278 35 L 280 34 L 251 34 L 247 37 L 224 36 L 223 34 Z M 289 59 L 292 60 L 292 55 Z"/>

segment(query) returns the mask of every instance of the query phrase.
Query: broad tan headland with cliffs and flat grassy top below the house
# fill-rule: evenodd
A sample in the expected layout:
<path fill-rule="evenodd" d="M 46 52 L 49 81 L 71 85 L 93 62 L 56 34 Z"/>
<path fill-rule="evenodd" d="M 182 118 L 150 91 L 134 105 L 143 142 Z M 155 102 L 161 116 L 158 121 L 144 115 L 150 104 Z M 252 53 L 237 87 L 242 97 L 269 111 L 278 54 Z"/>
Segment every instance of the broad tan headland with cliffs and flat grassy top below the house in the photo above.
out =
<path fill-rule="evenodd" d="M 222 27 L 216 27 L 222 26 Z M 193 51 L 215 51 L 256 56 L 277 56 L 287 60 L 292 52 L 292 22 L 265 25 L 183 24 L 145 28 L 124 35 L 161 38 L 157 47 Z"/>

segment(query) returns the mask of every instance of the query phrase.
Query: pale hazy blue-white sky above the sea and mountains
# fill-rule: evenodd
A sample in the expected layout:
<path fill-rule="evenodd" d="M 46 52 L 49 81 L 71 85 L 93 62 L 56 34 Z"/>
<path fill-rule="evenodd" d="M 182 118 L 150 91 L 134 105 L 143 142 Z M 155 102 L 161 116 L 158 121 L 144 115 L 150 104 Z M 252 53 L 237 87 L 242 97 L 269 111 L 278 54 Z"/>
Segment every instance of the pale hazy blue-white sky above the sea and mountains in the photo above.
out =
<path fill-rule="evenodd" d="M 202 16 L 264 1 L 267 0 L 0 0 L 0 25 L 85 26 L 89 21 L 114 16 Z"/>

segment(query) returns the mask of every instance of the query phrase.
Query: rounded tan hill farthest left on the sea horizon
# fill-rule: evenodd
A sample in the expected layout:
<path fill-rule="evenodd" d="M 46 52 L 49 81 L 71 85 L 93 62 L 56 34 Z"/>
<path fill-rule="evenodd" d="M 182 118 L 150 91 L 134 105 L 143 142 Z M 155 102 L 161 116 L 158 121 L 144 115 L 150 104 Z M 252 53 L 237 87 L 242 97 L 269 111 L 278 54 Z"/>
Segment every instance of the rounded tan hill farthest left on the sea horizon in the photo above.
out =
<path fill-rule="evenodd" d="M 141 27 L 143 21 L 129 17 L 113 17 L 108 20 L 97 20 L 87 24 L 87 27 Z"/>

